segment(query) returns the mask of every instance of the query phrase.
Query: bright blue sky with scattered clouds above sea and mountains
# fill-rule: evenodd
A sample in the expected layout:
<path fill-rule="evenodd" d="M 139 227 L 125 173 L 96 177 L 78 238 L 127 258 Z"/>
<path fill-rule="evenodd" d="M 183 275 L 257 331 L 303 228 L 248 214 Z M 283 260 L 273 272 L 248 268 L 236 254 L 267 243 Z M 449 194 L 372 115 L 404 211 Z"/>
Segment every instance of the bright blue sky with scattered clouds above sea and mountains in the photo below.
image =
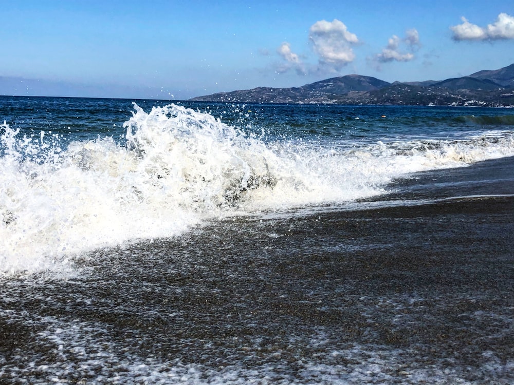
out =
<path fill-rule="evenodd" d="M 514 63 L 513 0 L 0 0 L 0 94 L 185 100 Z"/>

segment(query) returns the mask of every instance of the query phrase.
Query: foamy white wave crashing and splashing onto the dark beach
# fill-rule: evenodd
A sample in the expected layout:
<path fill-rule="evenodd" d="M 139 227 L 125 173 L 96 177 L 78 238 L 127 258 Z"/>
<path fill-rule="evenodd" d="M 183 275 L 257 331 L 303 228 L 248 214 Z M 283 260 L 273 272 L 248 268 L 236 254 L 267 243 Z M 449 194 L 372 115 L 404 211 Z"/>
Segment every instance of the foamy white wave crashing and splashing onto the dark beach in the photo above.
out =
<path fill-rule="evenodd" d="M 511 131 L 460 141 L 266 141 L 208 113 L 134 104 L 124 143 L 0 127 L 0 275 L 183 234 L 206 219 L 345 202 L 409 172 L 514 155 Z"/>

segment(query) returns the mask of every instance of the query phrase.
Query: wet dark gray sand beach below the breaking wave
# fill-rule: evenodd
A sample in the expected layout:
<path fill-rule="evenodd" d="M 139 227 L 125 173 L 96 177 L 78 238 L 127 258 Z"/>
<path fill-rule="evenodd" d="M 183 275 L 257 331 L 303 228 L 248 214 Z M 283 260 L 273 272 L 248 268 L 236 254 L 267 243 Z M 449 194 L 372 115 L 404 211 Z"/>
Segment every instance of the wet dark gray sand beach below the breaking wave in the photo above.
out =
<path fill-rule="evenodd" d="M 513 170 L 3 281 L 0 383 L 514 383 Z"/>

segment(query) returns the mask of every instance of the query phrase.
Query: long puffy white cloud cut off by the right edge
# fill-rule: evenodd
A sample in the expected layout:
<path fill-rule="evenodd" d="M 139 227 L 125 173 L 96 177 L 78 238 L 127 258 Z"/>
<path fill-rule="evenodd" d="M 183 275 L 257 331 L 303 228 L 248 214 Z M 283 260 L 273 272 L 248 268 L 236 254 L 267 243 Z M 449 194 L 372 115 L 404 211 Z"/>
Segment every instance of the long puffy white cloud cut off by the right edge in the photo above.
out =
<path fill-rule="evenodd" d="M 461 18 L 462 24 L 450 27 L 453 32 L 453 40 L 484 41 L 514 39 L 514 17 L 500 13 L 497 20 L 487 27 L 471 24 L 465 17 Z"/>

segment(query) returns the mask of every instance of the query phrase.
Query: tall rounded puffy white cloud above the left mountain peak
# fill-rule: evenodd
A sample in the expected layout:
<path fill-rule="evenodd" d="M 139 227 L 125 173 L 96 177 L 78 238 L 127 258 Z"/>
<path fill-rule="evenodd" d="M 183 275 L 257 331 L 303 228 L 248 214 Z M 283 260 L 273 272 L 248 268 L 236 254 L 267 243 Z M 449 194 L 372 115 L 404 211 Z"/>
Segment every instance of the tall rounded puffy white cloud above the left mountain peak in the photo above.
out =
<path fill-rule="evenodd" d="M 357 35 L 337 19 L 314 23 L 309 29 L 309 41 L 319 56 L 321 67 L 328 70 L 339 70 L 352 62 L 355 59 L 352 46 L 359 43 Z"/>

